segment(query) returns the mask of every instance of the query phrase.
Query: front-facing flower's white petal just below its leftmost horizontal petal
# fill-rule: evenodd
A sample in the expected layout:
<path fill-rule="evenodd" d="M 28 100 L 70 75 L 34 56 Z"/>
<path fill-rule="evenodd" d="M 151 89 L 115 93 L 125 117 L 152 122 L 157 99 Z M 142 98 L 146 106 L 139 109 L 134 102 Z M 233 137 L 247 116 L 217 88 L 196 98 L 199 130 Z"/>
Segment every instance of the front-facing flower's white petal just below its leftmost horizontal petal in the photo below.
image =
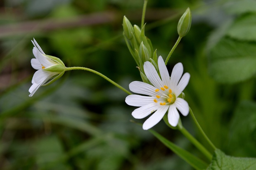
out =
<path fill-rule="evenodd" d="M 145 106 L 141 106 L 132 112 L 132 116 L 136 119 L 142 119 L 149 116 L 160 107 L 159 104 L 152 103 Z"/>

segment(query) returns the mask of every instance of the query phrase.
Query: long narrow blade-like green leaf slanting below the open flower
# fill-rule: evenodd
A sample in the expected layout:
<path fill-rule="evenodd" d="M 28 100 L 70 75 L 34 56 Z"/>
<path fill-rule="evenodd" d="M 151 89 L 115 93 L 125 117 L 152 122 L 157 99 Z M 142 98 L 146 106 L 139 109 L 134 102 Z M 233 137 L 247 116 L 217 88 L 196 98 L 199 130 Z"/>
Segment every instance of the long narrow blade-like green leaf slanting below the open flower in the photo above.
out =
<path fill-rule="evenodd" d="M 179 146 L 173 144 L 168 139 L 161 136 L 159 133 L 157 133 L 154 130 L 149 130 L 157 139 L 159 139 L 165 146 L 167 146 L 169 149 L 171 149 L 174 153 L 176 153 L 180 158 L 182 158 L 184 161 L 189 163 L 192 167 L 194 167 L 197 170 L 206 169 L 207 164 L 202 161 L 201 159 L 195 157 L 190 152 L 180 148 Z"/>

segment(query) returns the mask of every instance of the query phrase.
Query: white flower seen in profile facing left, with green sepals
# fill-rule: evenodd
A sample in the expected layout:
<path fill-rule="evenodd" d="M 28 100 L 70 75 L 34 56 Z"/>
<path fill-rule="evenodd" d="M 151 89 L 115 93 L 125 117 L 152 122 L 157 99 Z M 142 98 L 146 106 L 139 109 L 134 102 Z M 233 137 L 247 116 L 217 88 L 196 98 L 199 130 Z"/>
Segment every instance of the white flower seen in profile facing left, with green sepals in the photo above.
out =
<path fill-rule="evenodd" d="M 53 83 L 65 72 L 65 65 L 59 58 L 46 55 L 35 39 L 32 43 L 35 46 L 33 47 L 33 54 L 36 58 L 31 59 L 31 66 L 38 71 L 33 75 L 32 85 L 28 90 L 30 92 L 29 97 L 33 96 L 40 86 Z M 52 80 L 47 82 L 50 79 Z"/>

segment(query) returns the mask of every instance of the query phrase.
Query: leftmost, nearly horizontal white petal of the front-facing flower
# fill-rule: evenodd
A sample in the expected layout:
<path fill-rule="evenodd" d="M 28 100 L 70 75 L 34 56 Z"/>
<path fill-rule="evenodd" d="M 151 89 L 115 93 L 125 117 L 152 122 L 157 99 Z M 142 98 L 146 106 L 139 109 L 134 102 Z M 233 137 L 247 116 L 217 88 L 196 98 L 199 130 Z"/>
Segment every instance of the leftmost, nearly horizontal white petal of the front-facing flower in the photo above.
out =
<path fill-rule="evenodd" d="M 144 106 L 154 102 L 156 97 L 140 96 L 137 94 L 131 94 L 126 97 L 126 104 L 130 106 Z"/>

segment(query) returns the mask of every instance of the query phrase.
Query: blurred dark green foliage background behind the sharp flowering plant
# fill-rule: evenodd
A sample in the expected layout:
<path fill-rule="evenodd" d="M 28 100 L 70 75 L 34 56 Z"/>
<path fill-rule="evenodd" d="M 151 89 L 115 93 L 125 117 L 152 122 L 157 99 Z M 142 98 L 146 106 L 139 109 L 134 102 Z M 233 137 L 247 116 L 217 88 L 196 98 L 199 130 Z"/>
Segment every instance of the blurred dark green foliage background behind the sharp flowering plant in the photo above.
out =
<path fill-rule="evenodd" d="M 66 66 L 92 68 L 126 89 L 140 80 L 122 19 L 140 26 L 142 6 L 143 0 L 0 1 L 1 170 L 192 169 L 131 123 L 135 107 L 124 102 L 127 94 L 93 73 L 67 72 L 28 97 L 33 38 Z M 254 0 L 149 0 L 145 18 L 145 34 L 165 59 L 190 7 L 190 32 L 167 67 L 171 73 L 183 63 L 191 75 L 185 99 L 213 144 L 232 156 L 256 157 L 255 6 Z M 190 115 L 181 119 L 204 143 Z M 163 121 L 153 129 L 204 159 Z"/>

